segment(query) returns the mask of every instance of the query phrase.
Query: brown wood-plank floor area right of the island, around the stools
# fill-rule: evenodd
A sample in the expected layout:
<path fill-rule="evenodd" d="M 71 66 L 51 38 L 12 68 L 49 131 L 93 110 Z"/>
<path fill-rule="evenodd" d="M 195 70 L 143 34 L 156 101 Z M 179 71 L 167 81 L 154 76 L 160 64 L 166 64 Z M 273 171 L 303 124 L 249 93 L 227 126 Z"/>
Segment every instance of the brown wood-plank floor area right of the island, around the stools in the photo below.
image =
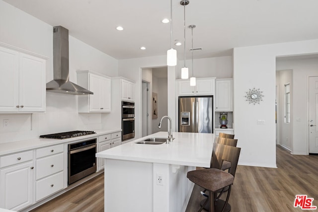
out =
<path fill-rule="evenodd" d="M 276 155 L 278 168 L 238 166 L 229 200 L 232 212 L 300 212 L 294 208 L 295 195 L 308 195 L 318 206 L 318 156 L 292 155 L 281 146 Z M 198 211 L 204 199 L 200 191 L 194 187 L 186 212 Z"/>

